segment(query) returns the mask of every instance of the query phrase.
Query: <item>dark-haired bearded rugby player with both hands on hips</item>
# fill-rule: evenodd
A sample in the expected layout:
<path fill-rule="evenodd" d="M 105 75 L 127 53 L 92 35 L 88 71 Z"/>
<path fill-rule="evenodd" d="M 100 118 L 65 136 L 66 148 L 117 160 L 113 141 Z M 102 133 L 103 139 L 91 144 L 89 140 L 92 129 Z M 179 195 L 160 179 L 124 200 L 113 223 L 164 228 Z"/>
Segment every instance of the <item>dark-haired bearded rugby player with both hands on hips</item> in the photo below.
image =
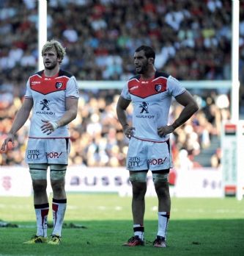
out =
<path fill-rule="evenodd" d="M 196 101 L 180 82 L 155 68 L 155 51 L 140 46 L 134 53 L 137 75 L 129 79 L 117 102 L 117 116 L 122 129 L 130 139 L 126 168 L 132 184 L 133 236 L 125 246 L 144 245 L 145 194 L 147 172 L 158 196 L 158 232 L 153 246 L 166 247 L 166 234 L 171 211 L 169 171 L 172 168 L 169 137 L 177 127 L 198 110 Z M 182 112 L 169 124 L 171 99 L 183 106 Z M 133 104 L 133 121 L 127 121 L 126 109 Z"/>

